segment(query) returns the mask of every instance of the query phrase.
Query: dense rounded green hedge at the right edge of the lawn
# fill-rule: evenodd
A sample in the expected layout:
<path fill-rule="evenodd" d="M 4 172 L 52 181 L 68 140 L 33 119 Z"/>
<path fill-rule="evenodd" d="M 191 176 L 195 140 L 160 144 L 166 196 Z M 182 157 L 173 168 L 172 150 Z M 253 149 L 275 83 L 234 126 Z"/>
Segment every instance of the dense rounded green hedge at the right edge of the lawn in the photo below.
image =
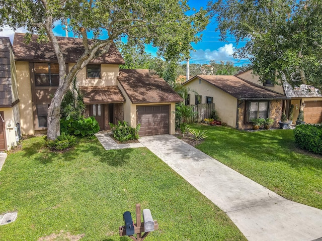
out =
<path fill-rule="evenodd" d="M 294 129 L 294 137 L 300 148 L 316 154 L 322 154 L 322 125 L 298 125 Z"/>

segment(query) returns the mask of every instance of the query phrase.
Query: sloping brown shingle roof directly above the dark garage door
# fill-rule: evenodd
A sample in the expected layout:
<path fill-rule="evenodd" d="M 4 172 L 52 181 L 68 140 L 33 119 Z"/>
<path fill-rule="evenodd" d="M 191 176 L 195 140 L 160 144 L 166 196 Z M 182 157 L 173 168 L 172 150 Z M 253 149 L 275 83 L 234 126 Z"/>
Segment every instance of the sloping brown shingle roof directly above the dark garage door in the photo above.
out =
<path fill-rule="evenodd" d="M 146 69 L 122 69 L 117 77 L 132 103 L 181 102 L 183 99 L 162 78 Z"/>

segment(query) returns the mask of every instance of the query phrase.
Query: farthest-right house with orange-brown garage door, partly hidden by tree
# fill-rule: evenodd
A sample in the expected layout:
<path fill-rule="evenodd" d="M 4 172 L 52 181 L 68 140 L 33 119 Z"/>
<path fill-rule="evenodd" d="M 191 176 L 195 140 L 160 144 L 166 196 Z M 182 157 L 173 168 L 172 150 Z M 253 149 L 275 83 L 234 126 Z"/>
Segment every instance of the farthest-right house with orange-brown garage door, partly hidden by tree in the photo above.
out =
<path fill-rule="evenodd" d="M 269 80 L 263 84 L 259 81 L 259 76 L 253 75 L 252 70 L 240 72 L 236 76 L 285 94 L 289 99 L 283 103 L 283 112 L 288 117 L 290 106 L 293 104 L 293 123 L 295 123 L 300 109 L 304 110 L 304 121 L 306 123 L 322 123 L 322 94 L 313 86 L 301 84 L 299 87 L 292 87 L 286 81 L 274 85 Z"/>

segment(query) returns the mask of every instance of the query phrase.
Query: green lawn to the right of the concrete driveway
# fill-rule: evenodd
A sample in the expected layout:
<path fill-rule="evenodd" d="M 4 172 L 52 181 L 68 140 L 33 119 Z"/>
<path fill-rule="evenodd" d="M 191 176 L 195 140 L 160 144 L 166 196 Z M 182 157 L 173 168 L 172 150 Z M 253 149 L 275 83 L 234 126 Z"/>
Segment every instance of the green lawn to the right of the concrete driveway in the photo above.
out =
<path fill-rule="evenodd" d="M 322 209 L 322 157 L 298 149 L 292 130 L 190 127 L 208 131 L 199 150 L 289 200 Z"/>

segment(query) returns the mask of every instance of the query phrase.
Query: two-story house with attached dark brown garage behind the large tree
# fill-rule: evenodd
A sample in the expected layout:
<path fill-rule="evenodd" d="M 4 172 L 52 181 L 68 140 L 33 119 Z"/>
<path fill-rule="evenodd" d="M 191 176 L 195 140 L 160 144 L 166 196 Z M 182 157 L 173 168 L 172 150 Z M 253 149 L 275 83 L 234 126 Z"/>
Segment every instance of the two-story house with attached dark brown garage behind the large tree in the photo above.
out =
<path fill-rule="evenodd" d="M 22 134 L 46 132 L 47 110 L 59 83 L 58 63 L 51 44 L 38 44 L 37 36 L 25 44 L 24 34 L 15 34 L 14 50 L 20 98 Z M 66 71 L 83 53 L 82 40 L 57 37 Z M 76 77 L 83 91 L 86 116 L 95 116 L 101 130 L 109 123 L 126 121 L 132 127 L 141 124 L 141 136 L 175 134 L 175 104 L 181 97 L 163 79 L 147 70 L 122 70 L 124 60 L 112 45 L 94 59 Z M 162 118 L 161 118 L 162 117 Z"/>

